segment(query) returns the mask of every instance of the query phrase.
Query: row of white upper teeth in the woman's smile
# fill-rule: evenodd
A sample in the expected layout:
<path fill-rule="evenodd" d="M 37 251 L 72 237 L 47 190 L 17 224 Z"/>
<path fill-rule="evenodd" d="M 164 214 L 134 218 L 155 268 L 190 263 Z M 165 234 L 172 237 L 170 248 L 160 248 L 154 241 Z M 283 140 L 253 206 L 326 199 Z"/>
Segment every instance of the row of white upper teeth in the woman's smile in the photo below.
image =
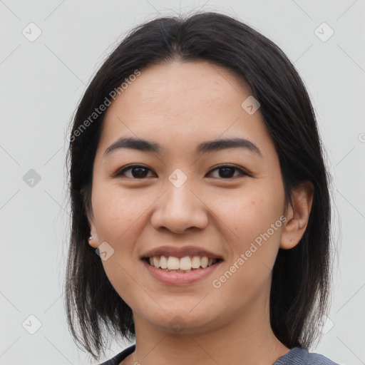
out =
<path fill-rule="evenodd" d="M 159 267 L 160 269 L 166 269 L 173 272 L 190 272 L 193 269 L 205 269 L 212 266 L 217 262 L 217 259 L 212 259 L 206 256 L 153 256 L 149 259 L 150 265 L 153 267 Z"/>

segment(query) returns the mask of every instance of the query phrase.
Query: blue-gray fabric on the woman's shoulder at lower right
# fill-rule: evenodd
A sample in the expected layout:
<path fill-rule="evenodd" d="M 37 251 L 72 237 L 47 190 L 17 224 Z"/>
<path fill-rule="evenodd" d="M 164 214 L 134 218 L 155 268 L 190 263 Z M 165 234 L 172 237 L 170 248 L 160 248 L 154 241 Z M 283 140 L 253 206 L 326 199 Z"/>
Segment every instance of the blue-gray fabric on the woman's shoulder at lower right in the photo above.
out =
<path fill-rule="evenodd" d="M 294 347 L 286 355 L 277 359 L 273 365 L 339 365 L 327 357 Z"/>

